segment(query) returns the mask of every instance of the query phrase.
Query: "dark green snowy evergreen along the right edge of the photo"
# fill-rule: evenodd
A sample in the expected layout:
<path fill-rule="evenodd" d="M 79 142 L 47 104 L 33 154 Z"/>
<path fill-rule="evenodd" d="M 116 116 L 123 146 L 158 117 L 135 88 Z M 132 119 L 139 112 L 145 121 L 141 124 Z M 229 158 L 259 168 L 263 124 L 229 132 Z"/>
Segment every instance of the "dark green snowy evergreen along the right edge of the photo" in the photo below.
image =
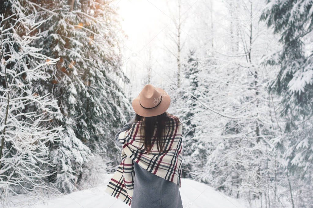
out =
<path fill-rule="evenodd" d="M 269 65 L 280 66 L 277 79 L 269 88 L 281 96 L 280 113 L 285 119 L 283 133 L 275 140 L 275 150 L 284 159 L 282 166 L 288 179 L 285 186 L 289 187 L 293 207 L 297 198 L 292 194 L 303 197 L 301 206 L 307 207 L 312 200 L 303 194 L 313 189 L 313 2 L 267 2 L 261 20 L 280 34 L 283 45 L 281 51 L 266 60 Z M 304 186 L 296 188 L 294 184 Z"/>

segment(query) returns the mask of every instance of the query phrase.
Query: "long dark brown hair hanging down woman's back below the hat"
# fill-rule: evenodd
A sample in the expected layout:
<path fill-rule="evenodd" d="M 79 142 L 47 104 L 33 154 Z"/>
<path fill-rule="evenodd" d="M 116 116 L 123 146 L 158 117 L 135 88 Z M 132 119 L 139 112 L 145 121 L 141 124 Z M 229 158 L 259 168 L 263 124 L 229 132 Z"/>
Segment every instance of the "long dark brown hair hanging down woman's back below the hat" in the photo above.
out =
<path fill-rule="evenodd" d="M 145 151 L 150 152 L 152 148 L 152 137 L 156 137 L 156 146 L 159 152 L 164 151 L 165 142 L 162 140 L 162 136 L 165 136 L 166 123 L 171 119 L 175 119 L 179 122 L 179 118 L 164 112 L 161 115 L 143 117 L 136 114 L 136 121 L 142 121 L 142 126 L 140 128 L 141 135 L 144 138 Z M 155 134 L 154 134 L 155 133 Z"/>

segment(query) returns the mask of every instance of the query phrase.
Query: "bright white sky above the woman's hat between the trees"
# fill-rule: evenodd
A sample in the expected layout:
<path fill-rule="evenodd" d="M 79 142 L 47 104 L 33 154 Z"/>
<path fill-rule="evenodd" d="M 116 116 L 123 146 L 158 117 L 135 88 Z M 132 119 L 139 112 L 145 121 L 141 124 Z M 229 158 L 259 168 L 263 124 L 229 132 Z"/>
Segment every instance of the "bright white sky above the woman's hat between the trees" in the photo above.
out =
<path fill-rule="evenodd" d="M 152 51 L 153 65 L 151 84 L 161 88 L 168 86 L 170 82 L 174 84 L 177 64 L 175 57 L 168 50 L 174 53 L 177 50 L 169 38 L 169 33 L 172 34 L 175 31 L 173 21 L 175 21 L 175 14 L 178 10 L 176 2 L 177 0 L 115 0 L 111 3 L 111 7 L 116 9 L 123 19 L 121 25 L 127 35 L 125 44 L 122 46 L 123 68 L 131 79 L 130 88 L 125 89 L 135 93 L 129 94 L 131 96 L 137 95 L 143 86 L 147 75 L 149 49 Z M 207 1 L 203 0 L 183 2 L 185 4 L 182 5 L 181 14 L 184 18 L 184 25 L 181 39 L 182 42 L 185 42 L 184 49 L 188 50 L 190 46 L 199 45 L 199 42 L 195 42 L 195 39 L 201 39 L 197 36 L 199 30 L 208 30 L 196 20 L 208 19 L 206 15 L 209 13 L 209 5 Z M 217 5 L 218 2 L 215 3 L 215 6 Z M 217 7 L 217 9 L 220 10 L 221 7 Z"/>

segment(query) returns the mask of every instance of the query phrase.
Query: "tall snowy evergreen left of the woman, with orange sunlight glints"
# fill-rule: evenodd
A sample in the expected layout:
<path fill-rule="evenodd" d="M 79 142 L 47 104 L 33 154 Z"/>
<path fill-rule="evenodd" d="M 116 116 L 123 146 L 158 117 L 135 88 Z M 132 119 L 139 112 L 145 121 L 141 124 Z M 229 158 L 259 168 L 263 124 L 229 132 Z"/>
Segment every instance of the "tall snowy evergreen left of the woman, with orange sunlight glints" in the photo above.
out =
<path fill-rule="evenodd" d="M 49 68 L 49 79 L 38 79 L 33 86 L 38 94 L 51 93 L 58 100 L 61 113 L 51 123 L 64 131 L 50 145 L 50 160 L 56 166 L 49 182 L 63 192 L 77 188 L 92 150 L 103 156 L 105 165 L 119 161 L 113 137 L 126 122 L 130 104 L 115 82 L 128 79 L 120 70 L 120 29 L 109 3 L 25 0 L 17 4 L 23 5 L 21 11 L 36 13 L 37 22 L 45 21 L 33 31 L 39 36 L 33 46 L 59 58 Z"/>

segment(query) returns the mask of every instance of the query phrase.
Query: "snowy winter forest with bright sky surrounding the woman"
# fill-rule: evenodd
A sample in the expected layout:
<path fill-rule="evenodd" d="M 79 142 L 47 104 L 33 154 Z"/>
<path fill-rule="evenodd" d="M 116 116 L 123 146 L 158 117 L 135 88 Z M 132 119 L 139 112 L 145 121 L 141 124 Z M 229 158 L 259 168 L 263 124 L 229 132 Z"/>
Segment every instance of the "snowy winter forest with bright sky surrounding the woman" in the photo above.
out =
<path fill-rule="evenodd" d="M 312 208 L 312 4 L 2 0 L 0 206 L 113 173 L 150 83 L 183 121 L 184 178 L 246 207 Z"/>

